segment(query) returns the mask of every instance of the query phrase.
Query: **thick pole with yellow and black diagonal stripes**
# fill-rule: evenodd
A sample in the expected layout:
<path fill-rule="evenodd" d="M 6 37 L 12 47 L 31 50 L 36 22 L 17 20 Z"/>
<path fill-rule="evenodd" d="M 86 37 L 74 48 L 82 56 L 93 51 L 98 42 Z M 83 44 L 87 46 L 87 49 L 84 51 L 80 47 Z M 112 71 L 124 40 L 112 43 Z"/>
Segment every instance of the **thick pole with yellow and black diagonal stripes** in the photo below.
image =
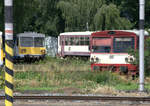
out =
<path fill-rule="evenodd" d="M 5 106 L 13 106 L 13 0 L 5 0 Z"/>

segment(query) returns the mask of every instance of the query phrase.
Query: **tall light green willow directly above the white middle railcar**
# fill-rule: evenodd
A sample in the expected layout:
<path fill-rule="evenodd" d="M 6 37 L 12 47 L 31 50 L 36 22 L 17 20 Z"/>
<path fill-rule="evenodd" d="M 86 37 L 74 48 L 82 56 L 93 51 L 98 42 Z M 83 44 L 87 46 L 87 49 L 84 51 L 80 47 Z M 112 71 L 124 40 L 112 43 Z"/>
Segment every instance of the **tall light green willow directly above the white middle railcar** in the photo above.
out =
<path fill-rule="evenodd" d="M 83 31 L 86 23 L 93 30 L 93 18 L 103 0 L 62 0 L 57 7 L 65 20 L 65 31 Z"/>

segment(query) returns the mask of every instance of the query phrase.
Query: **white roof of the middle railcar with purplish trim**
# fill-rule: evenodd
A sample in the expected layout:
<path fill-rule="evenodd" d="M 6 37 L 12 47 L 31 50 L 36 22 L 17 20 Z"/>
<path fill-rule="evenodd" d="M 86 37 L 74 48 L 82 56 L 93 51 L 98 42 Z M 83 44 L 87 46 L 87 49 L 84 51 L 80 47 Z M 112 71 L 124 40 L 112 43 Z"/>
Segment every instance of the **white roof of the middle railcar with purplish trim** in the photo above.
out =
<path fill-rule="evenodd" d="M 60 33 L 59 35 L 91 35 L 92 31 L 85 31 L 85 32 L 64 32 Z"/>

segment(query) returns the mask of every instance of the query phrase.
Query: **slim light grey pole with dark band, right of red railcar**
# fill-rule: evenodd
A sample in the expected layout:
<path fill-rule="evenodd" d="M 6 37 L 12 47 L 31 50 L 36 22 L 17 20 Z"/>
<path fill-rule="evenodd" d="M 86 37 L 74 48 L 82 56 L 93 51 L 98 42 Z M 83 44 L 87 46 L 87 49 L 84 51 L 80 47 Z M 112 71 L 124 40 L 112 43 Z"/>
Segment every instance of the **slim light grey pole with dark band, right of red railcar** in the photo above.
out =
<path fill-rule="evenodd" d="M 139 44 L 139 91 L 144 91 L 144 18 L 145 18 L 145 0 L 139 0 L 139 30 L 140 30 L 140 44 Z"/>

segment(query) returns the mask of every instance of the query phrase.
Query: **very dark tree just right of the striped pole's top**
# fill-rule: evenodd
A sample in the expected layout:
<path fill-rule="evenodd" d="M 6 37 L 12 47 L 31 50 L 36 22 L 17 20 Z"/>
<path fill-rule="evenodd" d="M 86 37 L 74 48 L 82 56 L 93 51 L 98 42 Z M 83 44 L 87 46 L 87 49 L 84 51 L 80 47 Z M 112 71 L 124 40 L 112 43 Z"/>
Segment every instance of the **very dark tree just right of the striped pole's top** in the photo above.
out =
<path fill-rule="evenodd" d="M 28 26 L 29 19 L 33 17 L 36 11 L 36 0 L 14 0 L 14 32 L 21 33 L 26 31 L 25 27 Z"/>

